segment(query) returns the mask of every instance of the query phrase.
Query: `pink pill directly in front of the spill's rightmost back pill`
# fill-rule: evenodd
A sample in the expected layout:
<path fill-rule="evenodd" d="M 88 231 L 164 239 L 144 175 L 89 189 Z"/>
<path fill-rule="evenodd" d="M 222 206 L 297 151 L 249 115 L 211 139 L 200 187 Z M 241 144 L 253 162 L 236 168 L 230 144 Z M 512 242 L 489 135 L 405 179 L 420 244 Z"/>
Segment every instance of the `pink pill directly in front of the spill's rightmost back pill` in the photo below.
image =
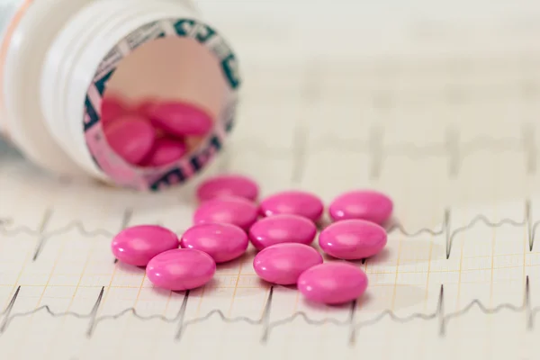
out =
<path fill-rule="evenodd" d="M 319 246 L 332 257 L 360 260 L 386 246 L 386 230 L 371 221 L 342 220 L 320 231 Z"/>

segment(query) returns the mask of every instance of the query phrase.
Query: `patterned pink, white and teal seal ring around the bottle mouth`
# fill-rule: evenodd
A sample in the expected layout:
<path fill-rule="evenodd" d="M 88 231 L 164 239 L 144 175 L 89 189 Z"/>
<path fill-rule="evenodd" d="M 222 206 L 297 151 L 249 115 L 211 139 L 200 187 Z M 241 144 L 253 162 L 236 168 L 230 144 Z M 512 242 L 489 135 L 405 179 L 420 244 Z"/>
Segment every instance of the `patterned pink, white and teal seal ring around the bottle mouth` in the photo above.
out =
<path fill-rule="evenodd" d="M 188 156 L 173 164 L 157 168 L 133 166 L 118 157 L 105 140 L 100 116 L 103 93 L 107 82 L 123 58 L 140 45 L 166 36 L 190 37 L 197 40 L 219 59 L 222 76 L 229 87 L 228 103 L 221 110 L 211 133 Z M 115 184 L 138 190 L 157 191 L 183 183 L 201 171 L 211 158 L 220 152 L 224 138 L 233 127 L 239 85 L 237 58 L 234 52 L 220 34 L 207 24 L 194 19 L 169 19 L 140 27 L 121 40 L 103 58 L 95 73 L 93 84 L 86 93 L 85 139 L 94 163 Z"/>

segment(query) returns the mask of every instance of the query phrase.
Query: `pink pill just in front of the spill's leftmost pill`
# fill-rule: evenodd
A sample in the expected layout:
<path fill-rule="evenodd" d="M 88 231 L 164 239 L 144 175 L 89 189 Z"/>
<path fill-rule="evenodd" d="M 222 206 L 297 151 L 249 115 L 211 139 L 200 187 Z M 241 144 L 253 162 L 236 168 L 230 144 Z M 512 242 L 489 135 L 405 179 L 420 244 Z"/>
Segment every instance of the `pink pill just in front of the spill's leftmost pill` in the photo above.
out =
<path fill-rule="evenodd" d="M 193 248 L 175 248 L 148 262 L 148 280 L 157 287 L 182 292 L 207 284 L 216 273 L 210 255 Z"/>

